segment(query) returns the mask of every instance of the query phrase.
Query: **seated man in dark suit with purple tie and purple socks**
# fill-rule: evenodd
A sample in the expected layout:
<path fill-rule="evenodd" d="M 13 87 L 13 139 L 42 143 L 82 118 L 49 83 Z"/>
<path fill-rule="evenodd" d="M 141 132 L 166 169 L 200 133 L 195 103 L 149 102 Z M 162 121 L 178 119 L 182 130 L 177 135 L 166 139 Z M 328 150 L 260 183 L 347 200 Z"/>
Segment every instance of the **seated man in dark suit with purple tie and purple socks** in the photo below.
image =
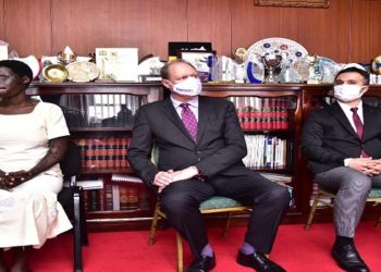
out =
<path fill-rule="evenodd" d="M 171 96 L 139 109 L 128 160 L 148 186 L 158 188 L 170 224 L 188 242 L 195 259 L 187 271 L 209 271 L 216 265 L 199 211 L 200 202 L 216 195 L 254 208 L 237 262 L 257 271 L 284 271 L 266 254 L 290 194 L 243 164 L 246 145 L 234 104 L 198 96 L 197 71 L 185 61 L 168 63 L 161 76 Z M 157 166 L 150 161 L 153 144 L 159 149 Z"/>

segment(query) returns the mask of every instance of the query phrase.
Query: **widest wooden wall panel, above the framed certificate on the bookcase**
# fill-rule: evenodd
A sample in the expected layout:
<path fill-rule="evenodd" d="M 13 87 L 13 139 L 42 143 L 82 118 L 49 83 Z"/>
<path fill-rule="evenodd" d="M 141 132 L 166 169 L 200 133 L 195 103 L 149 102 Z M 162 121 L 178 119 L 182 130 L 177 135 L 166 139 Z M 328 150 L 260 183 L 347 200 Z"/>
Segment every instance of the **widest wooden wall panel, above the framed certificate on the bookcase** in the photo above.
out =
<path fill-rule="evenodd" d="M 167 58 L 169 40 L 186 40 L 186 0 L 52 0 L 53 52 L 69 45 L 87 55 L 97 47 L 138 47 Z"/>

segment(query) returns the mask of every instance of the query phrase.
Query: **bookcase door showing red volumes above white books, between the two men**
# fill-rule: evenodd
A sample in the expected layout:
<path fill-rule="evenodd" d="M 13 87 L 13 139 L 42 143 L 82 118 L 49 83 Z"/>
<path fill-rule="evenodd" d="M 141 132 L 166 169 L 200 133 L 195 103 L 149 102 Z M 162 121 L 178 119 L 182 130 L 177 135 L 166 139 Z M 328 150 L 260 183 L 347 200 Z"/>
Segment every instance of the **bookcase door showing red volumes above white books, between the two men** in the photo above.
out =
<path fill-rule="evenodd" d="M 231 96 L 247 156 L 244 164 L 270 181 L 295 186 L 295 112 L 297 96 Z"/>

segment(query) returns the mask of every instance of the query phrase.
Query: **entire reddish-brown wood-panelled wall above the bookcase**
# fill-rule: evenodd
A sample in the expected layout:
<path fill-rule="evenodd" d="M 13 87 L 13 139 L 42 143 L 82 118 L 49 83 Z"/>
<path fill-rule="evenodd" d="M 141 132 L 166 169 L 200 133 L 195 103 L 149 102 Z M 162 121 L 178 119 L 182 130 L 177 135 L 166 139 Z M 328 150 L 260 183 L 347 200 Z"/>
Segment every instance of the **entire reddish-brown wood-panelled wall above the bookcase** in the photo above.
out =
<path fill-rule="evenodd" d="M 254 0 L 0 0 L 0 39 L 22 57 L 52 55 L 69 45 L 138 47 L 167 58 L 168 41 L 211 41 L 230 55 L 268 37 L 302 44 L 337 62 L 381 54 L 380 0 L 331 0 L 329 9 L 255 7 Z"/>

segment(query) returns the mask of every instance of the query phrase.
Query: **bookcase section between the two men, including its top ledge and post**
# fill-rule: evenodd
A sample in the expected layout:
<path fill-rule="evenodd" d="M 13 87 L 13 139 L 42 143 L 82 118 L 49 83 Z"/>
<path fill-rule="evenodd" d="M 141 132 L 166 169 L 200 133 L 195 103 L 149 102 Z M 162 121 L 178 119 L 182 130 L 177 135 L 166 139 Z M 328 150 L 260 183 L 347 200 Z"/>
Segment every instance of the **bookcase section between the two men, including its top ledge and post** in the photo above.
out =
<path fill-rule="evenodd" d="M 296 171 L 300 158 L 296 150 L 305 86 L 206 84 L 201 92 L 235 104 L 247 144 L 245 165 L 295 188 L 296 201 L 290 209 L 291 218 L 302 214 L 303 194 L 297 188 L 300 176 Z"/>

